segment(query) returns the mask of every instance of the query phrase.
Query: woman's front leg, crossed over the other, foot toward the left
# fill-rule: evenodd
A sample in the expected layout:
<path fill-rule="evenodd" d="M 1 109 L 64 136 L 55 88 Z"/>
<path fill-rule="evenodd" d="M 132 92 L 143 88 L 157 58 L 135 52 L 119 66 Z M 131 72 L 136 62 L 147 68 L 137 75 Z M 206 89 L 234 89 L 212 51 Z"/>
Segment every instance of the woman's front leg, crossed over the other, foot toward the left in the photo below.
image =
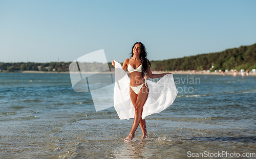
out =
<path fill-rule="evenodd" d="M 125 141 L 131 141 L 134 138 L 135 131 L 136 131 L 136 129 L 139 126 L 140 121 L 141 121 L 141 114 L 142 114 L 142 111 L 143 111 L 143 105 L 146 102 L 147 95 L 148 95 L 148 88 L 144 85 L 142 87 L 142 89 L 140 90 L 140 92 L 137 96 L 136 103 L 135 103 L 134 123 L 133 123 L 131 133 L 127 138 L 124 139 Z M 132 94 L 132 91 L 131 91 L 131 99 L 132 98 L 133 98 L 133 94 Z M 144 126 L 145 126 L 145 124 L 144 124 Z M 142 129 L 143 129 L 143 123 L 142 123 Z M 143 136 L 144 136 L 144 134 L 143 134 Z"/>

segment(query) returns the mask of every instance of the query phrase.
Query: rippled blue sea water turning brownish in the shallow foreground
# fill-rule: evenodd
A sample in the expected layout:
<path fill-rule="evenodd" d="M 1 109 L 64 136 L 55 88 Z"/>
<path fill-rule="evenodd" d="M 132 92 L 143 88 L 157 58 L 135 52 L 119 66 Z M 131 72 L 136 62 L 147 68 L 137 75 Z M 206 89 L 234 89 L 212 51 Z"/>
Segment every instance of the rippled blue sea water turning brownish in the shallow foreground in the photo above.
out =
<path fill-rule="evenodd" d="M 133 119 L 120 120 L 114 107 L 96 112 L 91 94 L 75 92 L 68 73 L 0 73 L 0 158 L 255 154 L 256 76 L 174 79 L 179 94 L 166 110 L 146 117 L 148 138 L 139 139 L 138 127 L 135 139 L 124 142 Z"/>

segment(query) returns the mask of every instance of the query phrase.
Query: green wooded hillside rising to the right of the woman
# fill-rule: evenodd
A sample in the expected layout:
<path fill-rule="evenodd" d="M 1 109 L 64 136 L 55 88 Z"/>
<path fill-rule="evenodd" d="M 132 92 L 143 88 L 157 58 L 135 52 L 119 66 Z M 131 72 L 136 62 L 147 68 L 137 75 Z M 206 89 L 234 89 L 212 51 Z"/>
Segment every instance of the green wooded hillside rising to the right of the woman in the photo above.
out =
<path fill-rule="evenodd" d="M 151 61 L 152 70 L 214 70 L 255 69 L 256 43 L 250 46 L 230 48 L 221 52 L 201 54 L 178 59 Z"/>

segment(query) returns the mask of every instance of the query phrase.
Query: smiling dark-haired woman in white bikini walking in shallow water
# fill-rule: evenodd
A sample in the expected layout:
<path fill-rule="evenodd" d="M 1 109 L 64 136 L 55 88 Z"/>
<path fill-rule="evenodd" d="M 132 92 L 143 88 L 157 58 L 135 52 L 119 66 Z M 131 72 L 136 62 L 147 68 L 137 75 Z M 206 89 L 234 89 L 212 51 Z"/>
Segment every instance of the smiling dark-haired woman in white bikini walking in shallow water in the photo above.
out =
<path fill-rule="evenodd" d="M 123 62 L 123 66 L 122 66 L 122 69 L 124 71 L 126 71 L 127 69 L 130 73 L 130 98 L 135 111 L 133 127 L 129 136 L 124 139 L 125 141 L 131 141 L 135 137 L 135 131 L 139 124 L 143 133 L 143 136 L 141 139 L 147 138 L 146 122 L 145 122 L 145 119 L 142 119 L 142 112 L 143 112 L 143 106 L 148 98 L 148 92 L 150 90 L 147 86 L 148 82 L 145 83 L 144 76 L 147 74 L 147 76 L 150 78 L 159 78 L 159 77 L 163 77 L 166 74 L 171 74 L 171 73 L 153 74 L 152 71 L 150 70 L 151 63 L 146 56 L 147 56 L 147 52 L 146 52 L 145 46 L 141 42 L 136 42 L 132 48 L 131 58 L 126 59 Z M 112 65 L 116 67 L 116 63 L 117 63 L 116 61 L 113 61 Z M 119 84 L 118 84 L 118 87 L 119 87 Z"/>

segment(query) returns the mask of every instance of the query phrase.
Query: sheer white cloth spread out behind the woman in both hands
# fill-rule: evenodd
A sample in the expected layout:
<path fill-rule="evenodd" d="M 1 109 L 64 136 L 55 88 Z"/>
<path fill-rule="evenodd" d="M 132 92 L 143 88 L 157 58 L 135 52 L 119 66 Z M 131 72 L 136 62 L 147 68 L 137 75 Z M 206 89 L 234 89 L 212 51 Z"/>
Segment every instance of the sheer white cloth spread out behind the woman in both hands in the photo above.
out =
<path fill-rule="evenodd" d="M 120 63 L 115 62 L 114 107 L 122 119 L 134 118 L 135 109 L 130 97 L 130 78 L 122 69 Z M 149 89 L 146 102 L 143 106 L 142 119 L 146 116 L 159 113 L 168 108 L 175 100 L 178 91 L 173 74 L 164 75 L 157 83 L 145 80 Z M 138 99 L 139 100 L 139 99 Z"/>

